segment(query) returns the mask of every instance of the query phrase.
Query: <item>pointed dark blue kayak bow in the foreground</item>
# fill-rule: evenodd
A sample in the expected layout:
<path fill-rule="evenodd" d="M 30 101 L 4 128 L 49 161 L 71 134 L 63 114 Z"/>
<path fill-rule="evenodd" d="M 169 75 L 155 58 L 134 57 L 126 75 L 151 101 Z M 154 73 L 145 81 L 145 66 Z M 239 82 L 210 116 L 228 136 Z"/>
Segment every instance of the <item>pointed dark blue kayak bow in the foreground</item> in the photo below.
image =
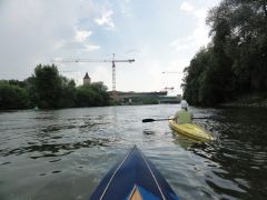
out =
<path fill-rule="evenodd" d="M 135 146 L 101 180 L 91 200 L 178 199 L 156 167 Z"/>

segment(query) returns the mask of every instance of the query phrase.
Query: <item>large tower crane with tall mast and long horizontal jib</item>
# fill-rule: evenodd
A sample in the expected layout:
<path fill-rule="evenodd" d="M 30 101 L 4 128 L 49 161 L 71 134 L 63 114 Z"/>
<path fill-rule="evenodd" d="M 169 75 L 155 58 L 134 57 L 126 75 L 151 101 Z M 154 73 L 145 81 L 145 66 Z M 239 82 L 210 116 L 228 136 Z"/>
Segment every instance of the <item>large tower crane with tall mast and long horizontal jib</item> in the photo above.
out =
<path fill-rule="evenodd" d="M 135 59 L 119 60 L 115 59 L 115 53 L 112 53 L 112 59 L 101 60 L 101 59 L 62 59 L 52 60 L 52 62 L 111 62 L 112 63 L 112 93 L 116 96 L 116 62 L 135 62 Z"/>

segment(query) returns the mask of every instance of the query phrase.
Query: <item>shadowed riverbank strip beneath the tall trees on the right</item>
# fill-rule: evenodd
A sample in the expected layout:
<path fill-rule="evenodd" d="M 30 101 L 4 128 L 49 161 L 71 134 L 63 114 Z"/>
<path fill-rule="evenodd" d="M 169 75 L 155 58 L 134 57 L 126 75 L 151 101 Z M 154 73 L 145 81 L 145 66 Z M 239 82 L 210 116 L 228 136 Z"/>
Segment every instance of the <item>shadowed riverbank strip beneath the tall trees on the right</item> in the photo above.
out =
<path fill-rule="evenodd" d="M 253 107 L 253 108 L 267 108 L 267 94 L 244 94 L 234 101 L 220 103 L 220 107 Z"/>

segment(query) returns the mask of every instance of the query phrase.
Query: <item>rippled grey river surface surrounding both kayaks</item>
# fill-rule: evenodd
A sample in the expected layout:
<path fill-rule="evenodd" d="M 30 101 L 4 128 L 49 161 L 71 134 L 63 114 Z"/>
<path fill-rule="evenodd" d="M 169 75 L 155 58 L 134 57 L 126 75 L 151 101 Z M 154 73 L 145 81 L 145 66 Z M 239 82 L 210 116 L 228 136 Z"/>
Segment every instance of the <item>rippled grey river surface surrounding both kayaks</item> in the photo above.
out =
<path fill-rule="evenodd" d="M 180 199 L 267 199 L 267 110 L 190 108 L 217 138 L 172 132 L 179 106 L 0 112 L 0 199 L 88 199 L 137 144 Z"/>

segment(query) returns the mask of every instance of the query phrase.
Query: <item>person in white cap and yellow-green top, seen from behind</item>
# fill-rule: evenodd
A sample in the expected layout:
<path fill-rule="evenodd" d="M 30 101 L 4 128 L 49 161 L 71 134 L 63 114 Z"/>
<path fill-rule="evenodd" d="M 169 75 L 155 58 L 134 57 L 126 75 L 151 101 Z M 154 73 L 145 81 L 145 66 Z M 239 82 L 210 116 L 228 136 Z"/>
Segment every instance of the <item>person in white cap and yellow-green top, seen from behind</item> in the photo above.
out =
<path fill-rule="evenodd" d="M 187 110 L 187 108 L 188 108 L 187 101 L 186 100 L 181 100 L 180 107 L 181 107 L 181 109 L 176 112 L 174 120 L 177 123 L 179 123 L 179 124 L 181 124 L 181 123 L 191 123 L 191 121 L 192 121 L 192 113 Z"/>

